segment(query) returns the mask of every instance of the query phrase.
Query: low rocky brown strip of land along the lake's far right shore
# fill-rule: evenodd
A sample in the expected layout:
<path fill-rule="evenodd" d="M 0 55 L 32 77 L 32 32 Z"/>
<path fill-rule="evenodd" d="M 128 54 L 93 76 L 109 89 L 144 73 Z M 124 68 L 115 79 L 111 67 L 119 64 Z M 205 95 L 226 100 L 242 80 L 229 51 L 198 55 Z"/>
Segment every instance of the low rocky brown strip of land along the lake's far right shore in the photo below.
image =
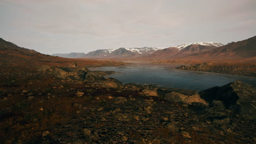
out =
<path fill-rule="evenodd" d="M 224 63 L 200 63 L 191 64 L 189 66 L 182 65 L 177 69 L 207 71 L 212 73 L 231 74 L 231 75 L 245 75 L 256 77 L 255 64 L 224 64 Z"/>

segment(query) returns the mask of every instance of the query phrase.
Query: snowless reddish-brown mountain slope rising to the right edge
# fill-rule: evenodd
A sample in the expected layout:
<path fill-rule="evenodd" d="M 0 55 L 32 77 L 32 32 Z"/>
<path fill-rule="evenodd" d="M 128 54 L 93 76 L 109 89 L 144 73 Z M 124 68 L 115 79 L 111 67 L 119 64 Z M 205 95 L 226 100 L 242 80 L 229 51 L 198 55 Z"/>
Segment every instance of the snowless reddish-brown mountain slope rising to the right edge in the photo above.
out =
<path fill-rule="evenodd" d="M 194 53 L 184 59 L 202 59 L 207 61 L 236 61 L 242 59 L 256 59 L 256 36 L 229 43 L 210 51 Z"/>

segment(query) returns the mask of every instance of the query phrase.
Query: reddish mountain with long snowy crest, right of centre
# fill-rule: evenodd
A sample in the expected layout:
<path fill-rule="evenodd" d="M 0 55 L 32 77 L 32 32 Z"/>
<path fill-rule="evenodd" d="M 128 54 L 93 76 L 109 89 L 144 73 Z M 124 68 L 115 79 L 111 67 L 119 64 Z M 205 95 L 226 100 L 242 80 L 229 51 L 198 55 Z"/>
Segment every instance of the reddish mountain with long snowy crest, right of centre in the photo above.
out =
<path fill-rule="evenodd" d="M 170 59 L 170 58 L 179 58 L 194 53 L 204 52 L 216 49 L 219 46 L 223 46 L 221 43 L 217 42 L 202 42 L 202 43 L 191 43 L 191 44 L 182 44 L 174 47 L 168 47 L 156 51 L 148 56 L 142 58 L 146 59 Z"/>

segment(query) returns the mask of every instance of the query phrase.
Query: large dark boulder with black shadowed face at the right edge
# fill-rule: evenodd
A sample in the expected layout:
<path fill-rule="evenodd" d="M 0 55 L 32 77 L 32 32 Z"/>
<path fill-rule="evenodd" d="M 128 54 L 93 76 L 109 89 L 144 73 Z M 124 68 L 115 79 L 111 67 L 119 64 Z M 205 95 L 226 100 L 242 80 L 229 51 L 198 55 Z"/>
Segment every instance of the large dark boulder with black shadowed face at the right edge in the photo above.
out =
<path fill-rule="evenodd" d="M 210 104 L 213 104 L 214 100 L 223 101 L 226 109 L 256 119 L 256 88 L 247 83 L 235 81 L 222 87 L 206 89 L 199 94 Z"/>

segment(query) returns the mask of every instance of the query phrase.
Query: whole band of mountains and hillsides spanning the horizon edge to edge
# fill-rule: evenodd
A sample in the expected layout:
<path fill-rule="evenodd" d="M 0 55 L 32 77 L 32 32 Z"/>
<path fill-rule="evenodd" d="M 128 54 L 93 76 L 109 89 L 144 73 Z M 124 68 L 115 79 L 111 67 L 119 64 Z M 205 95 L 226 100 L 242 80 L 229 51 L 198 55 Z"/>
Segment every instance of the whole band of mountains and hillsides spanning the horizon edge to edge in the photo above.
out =
<path fill-rule="evenodd" d="M 217 42 L 183 44 L 168 48 L 141 47 L 96 50 L 85 53 L 54 54 L 53 57 L 19 47 L 0 38 L 0 57 L 3 59 L 52 59 L 66 58 L 118 58 L 118 59 L 172 59 L 185 61 L 256 61 L 256 36 L 223 45 Z"/>

